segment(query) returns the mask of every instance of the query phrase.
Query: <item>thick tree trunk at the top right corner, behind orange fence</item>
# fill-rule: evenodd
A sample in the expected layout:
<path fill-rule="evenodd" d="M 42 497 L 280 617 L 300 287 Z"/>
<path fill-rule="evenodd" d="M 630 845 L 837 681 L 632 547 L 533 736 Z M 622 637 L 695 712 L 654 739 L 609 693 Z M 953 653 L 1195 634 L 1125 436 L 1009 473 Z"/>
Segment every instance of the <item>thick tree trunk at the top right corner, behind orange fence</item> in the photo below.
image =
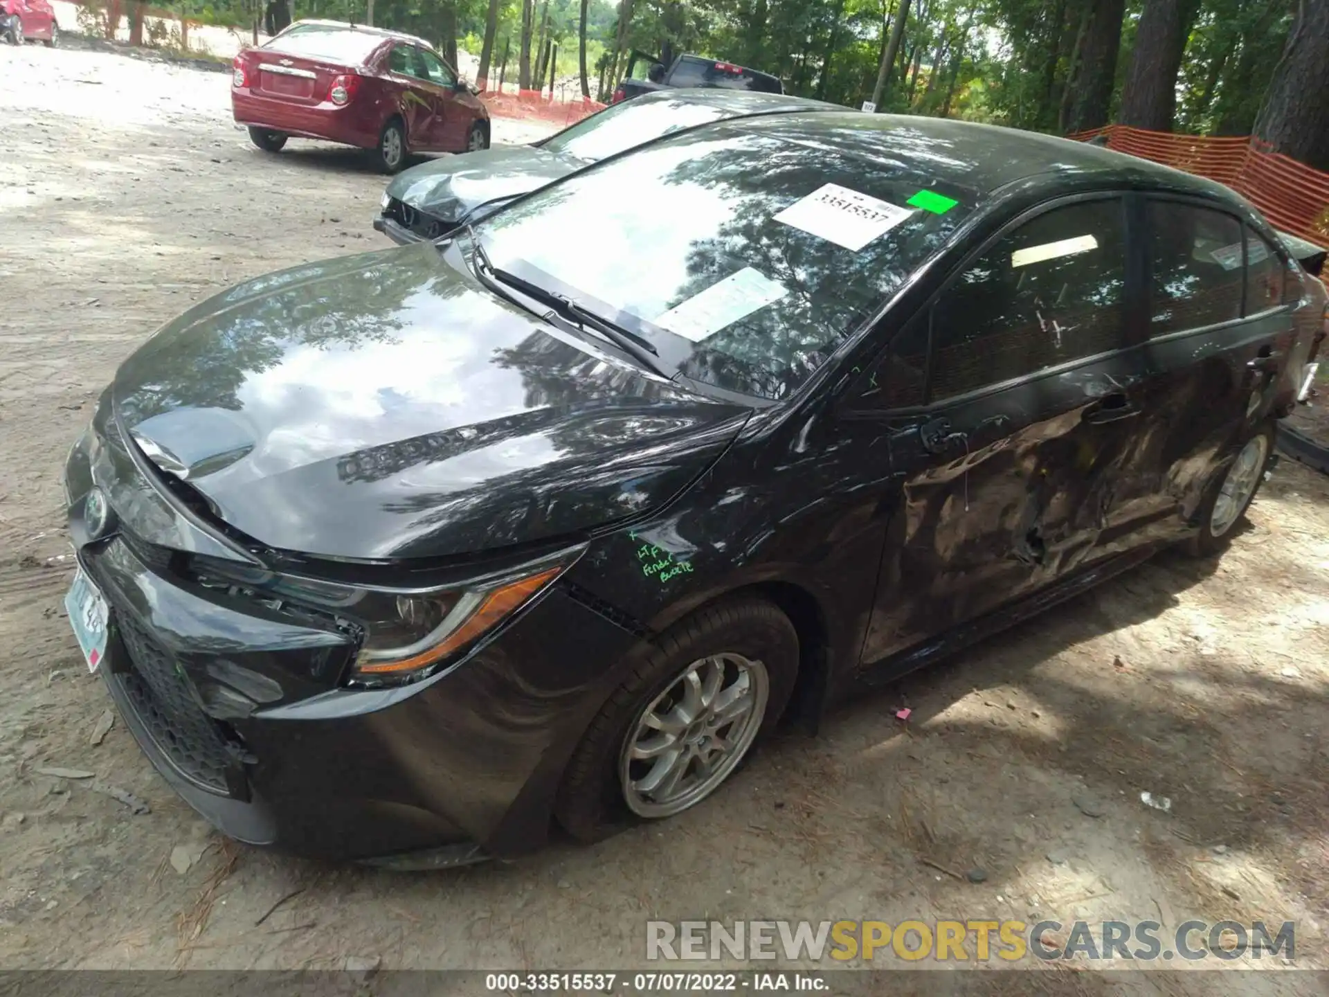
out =
<path fill-rule="evenodd" d="M 1329 0 L 1300 0 L 1255 134 L 1272 152 L 1329 171 Z"/>

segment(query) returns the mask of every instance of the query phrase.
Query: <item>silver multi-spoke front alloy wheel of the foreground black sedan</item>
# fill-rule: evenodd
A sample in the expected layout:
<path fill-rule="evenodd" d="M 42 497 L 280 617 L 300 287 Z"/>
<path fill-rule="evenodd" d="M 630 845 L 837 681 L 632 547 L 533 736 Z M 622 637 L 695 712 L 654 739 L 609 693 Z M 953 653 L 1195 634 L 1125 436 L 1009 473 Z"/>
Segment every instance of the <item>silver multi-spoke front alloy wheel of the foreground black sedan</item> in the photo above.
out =
<path fill-rule="evenodd" d="M 623 740 L 627 808 L 667 818 L 714 792 L 752 747 L 769 686 L 766 665 L 742 654 L 712 654 L 683 669 Z"/>

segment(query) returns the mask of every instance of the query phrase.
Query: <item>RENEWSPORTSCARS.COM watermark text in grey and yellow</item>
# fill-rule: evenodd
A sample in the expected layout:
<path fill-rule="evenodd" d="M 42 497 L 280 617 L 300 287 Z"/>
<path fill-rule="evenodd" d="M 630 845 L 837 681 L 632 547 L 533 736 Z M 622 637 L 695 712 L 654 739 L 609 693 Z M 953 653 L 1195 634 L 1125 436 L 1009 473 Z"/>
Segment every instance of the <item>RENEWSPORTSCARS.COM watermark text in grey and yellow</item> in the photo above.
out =
<path fill-rule="evenodd" d="M 783 958 L 870 962 L 987 962 L 1088 958 L 1152 962 L 1282 956 L 1296 958 L 1296 925 L 1264 921 L 647 921 L 646 958 L 682 961 Z"/>

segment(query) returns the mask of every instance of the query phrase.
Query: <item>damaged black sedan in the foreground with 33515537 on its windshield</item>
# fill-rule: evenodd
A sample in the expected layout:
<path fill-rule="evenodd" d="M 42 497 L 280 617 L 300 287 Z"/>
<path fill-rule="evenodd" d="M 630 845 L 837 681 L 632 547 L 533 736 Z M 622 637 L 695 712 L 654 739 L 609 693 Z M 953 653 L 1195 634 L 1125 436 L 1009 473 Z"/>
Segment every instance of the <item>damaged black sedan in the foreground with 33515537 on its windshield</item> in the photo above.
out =
<path fill-rule="evenodd" d="M 591 840 L 783 719 L 1216 554 L 1324 322 L 1195 177 L 954 121 L 707 125 L 169 323 L 69 455 L 69 615 L 234 837 Z"/>

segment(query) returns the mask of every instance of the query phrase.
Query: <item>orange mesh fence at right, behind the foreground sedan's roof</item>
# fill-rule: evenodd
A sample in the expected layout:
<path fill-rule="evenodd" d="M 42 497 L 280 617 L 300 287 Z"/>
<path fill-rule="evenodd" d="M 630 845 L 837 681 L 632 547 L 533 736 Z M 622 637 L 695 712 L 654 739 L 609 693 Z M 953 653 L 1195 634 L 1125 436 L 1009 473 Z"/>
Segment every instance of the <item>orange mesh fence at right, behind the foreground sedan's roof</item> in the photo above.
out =
<path fill-rule="evenodd" d="M 1253 136 L 1179 136 L 1108 125 L 1069 138 L 1107 136 L 1107 148 L 1216 179 L 1264 211 L 1282 231 L 1329 246 L 1329 173 L 1289 160 Z"/>

